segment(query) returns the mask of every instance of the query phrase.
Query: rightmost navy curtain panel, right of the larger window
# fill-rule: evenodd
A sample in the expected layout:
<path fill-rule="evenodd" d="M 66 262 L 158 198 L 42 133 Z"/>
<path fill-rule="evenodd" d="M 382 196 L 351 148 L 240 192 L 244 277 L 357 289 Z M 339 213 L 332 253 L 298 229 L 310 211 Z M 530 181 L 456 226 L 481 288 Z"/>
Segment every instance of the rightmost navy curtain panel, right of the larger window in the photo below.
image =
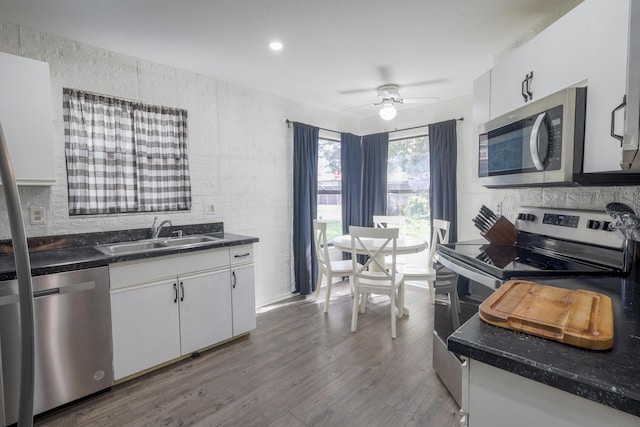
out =
<path fill-rule="evenodd" d="M 458 239 L 456 203 L 456 120 L 429 125 L 430 188 L 429 209 L 432 219 L 451 223 L 449 241 Z"/>

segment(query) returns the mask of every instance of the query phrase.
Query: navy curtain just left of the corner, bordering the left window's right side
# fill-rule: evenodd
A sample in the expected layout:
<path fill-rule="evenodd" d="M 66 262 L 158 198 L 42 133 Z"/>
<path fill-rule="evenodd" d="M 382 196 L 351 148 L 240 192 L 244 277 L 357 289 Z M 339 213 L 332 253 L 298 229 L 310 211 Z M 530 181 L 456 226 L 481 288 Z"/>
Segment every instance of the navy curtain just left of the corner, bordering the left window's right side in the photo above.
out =
<path fill-rule="evenodd" d="M 362 144 L 361 137 L 352 133 L 340 134 L 340 169 L 342 171 L 342 233 L 349 234 L 349 226 L 360 226 L 362 214 Z"/>

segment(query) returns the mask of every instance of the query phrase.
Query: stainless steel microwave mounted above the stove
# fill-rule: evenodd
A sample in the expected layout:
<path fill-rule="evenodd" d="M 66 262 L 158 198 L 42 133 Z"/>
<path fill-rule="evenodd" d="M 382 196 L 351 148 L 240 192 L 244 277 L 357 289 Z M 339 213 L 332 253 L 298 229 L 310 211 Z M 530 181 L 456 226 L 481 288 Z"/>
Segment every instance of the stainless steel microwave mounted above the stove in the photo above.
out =
<path fill-rule="evenodd" d="M 478 130 L 478 179 L 486 187 L 574 182 L 582 172 L 586 87 L 556 92 Z"/>

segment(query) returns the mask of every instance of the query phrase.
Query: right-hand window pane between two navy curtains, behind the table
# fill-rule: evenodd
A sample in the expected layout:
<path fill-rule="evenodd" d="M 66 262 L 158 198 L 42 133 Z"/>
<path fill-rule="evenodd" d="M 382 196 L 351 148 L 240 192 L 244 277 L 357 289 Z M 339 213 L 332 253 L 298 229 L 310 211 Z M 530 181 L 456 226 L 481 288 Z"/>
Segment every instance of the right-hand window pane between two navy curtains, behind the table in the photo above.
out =
<path fill-rule="evenodd" d="M 427 136 L 389 141 L 387 215 L 404 215 L 408 235 L 429 236 L 429 178 Z"/>

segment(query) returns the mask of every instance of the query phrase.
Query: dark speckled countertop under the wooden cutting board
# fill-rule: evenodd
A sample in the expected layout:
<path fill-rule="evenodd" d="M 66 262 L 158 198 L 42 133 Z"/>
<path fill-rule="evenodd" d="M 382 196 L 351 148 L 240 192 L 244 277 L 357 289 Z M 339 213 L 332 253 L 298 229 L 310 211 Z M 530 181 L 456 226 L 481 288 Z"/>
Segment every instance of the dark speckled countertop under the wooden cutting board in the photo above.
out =
<path fill-rule="evenodd" d="M 538 280 L 613 300 L 614 345 L 595 351 L 490 325 L 474 315 L 448 339 L 454 353 L 640 416 L 640 284 L 621 278 Z"/>

